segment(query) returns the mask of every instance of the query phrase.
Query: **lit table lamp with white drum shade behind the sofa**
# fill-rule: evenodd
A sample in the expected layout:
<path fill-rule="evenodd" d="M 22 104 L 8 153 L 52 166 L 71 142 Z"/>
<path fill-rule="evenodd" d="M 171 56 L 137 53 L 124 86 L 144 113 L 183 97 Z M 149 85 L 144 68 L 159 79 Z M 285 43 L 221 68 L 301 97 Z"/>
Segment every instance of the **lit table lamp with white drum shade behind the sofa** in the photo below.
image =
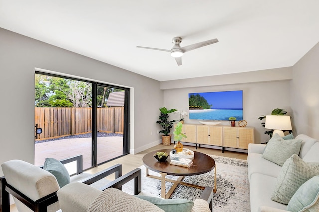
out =
<path fill-rule="evenodd" d="M 273 134 L 277 133 L 280 137 L 284 137 L 282 130 L 292 130 L 290 116 L 287 115 L 266 115 L 266 129 L 273 129 Z"/>

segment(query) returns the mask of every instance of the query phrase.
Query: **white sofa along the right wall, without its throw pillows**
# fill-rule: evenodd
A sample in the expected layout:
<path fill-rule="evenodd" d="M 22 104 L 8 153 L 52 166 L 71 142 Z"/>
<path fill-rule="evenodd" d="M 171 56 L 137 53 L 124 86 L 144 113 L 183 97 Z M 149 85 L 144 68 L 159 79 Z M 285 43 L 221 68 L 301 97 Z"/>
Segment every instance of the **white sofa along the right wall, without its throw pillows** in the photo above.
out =
<path fill-rule="evenodd" d="M 307 135 L 298 135 L 302 145 L 299 157 L 305 162 L 319 162 L 319 141 Z M 265 144 L 248 145 L 248 180 L 251 212 L 287 212 L 287 205 L 271 200 L 281 166 L 262 157 Z M 283 150 L 284 151 L 284 150 Z"/>

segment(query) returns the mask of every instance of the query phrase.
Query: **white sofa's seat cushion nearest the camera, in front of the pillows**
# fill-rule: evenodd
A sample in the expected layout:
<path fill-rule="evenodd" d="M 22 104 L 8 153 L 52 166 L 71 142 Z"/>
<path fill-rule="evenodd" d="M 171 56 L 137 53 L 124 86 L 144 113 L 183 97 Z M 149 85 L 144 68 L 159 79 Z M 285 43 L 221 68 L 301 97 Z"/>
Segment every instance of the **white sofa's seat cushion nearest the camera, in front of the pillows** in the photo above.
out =
<path fill-rule="evenodd" d="M 287 208 L 287 205 L 270 199 L 272 191 L 275 189 L 276 180 L 275 177 L 260 173 L 253 173 L 251 175 L 249 182 L 251 212 L 258 212 L 260 206 L 269 206 L 282 210 Z"/>

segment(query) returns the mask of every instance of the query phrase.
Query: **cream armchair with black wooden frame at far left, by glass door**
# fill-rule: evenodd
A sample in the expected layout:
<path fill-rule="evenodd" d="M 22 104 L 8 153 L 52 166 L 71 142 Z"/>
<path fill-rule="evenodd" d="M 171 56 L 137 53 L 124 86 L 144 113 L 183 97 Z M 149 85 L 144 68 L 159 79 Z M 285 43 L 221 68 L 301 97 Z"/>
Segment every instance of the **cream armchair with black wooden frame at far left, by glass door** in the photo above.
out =
<path fill-rule="evenodd" d="M 116 179 L 122 175 L 121 164 L 94 175 L 83 173 L 82 160 L 82 155 L 78 155 L 61 161 L 62 164 L 76 161 L 76 174 L 70 177 L 71 182 L 92 184 L 112 173 L 115 173 Z M 56 212 L 60 209 L 56 195 L 60 186 L 56 177 L 50 172 L 22 160 L 4 162 L 2 171 L 4 176 L 0 178 L 1 212 L 10 211 L 9 194 L 13 196 L 20 212 Z"/>

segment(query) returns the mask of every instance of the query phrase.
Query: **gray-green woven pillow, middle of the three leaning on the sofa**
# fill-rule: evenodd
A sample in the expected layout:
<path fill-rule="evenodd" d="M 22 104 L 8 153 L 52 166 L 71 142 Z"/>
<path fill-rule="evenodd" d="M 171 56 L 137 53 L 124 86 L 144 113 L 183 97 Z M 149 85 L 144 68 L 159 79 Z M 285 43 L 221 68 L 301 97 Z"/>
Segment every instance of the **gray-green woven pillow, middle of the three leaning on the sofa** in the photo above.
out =
<path fill-rule="evenodd" d="M 271 199 L 287 205 L 298 188 L 315 175 L 319 175 L 318 169 L 304 162 L 298 155 L 292 155 L 280 170 Z"/>

